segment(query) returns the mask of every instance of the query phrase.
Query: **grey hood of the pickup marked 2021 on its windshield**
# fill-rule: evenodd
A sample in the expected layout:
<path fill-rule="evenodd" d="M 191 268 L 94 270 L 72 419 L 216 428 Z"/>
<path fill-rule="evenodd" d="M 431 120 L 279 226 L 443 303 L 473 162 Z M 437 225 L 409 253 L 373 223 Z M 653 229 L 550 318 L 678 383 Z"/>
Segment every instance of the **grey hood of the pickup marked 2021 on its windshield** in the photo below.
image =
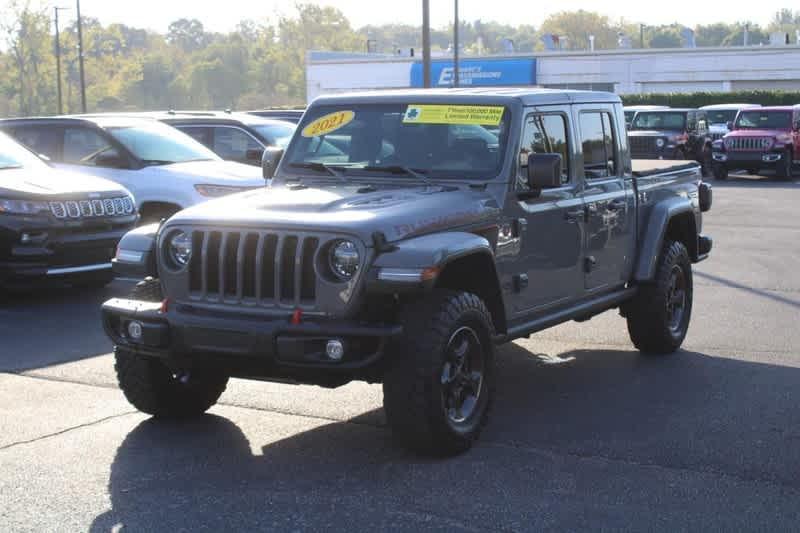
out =
<path fill-rule="evenodd" d="M 496 220 L 497 201 L 465 185 L 384 187 L 363 185 L 285 186 L 248 191 L 185 209 L 169 225 L 191 224 L 355 235 L 366 244 L 374 232 L 387 241 L 457 230 Z"/>

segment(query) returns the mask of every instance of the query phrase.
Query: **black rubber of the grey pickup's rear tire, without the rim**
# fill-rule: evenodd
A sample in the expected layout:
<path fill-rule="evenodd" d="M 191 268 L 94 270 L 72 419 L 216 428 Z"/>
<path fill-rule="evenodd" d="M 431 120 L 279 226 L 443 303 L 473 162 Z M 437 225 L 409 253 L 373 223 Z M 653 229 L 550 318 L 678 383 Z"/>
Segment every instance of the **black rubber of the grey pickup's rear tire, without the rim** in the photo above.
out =
<path fill-rule="evenodd" d="M 672 265 L 682 262 L 687 267 L 689 299 L 686 310 L 687 329 L 691 318 L 693 297 L 692 267 L 686 246 L 679 241 L 666 241 L 661 250 L 656 276 L 653 282 L 642 284 L 636 296 L 626 304 L 625 315 L 628 333 L 634 346 L 645 354 L 666 355 L 675 352 L 683 342 L 686 332 L 676 339 L 667 326 L 666 308 L 663 302 L 669 285 Z"/>

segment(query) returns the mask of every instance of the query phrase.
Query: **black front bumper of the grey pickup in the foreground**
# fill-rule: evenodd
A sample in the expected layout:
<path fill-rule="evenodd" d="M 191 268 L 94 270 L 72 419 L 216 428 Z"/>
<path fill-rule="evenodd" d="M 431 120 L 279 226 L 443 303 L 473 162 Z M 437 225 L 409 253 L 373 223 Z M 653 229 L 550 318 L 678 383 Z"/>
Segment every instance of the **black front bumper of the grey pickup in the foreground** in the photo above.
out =
<path fill-rule="evenodd" d="M 263 316 L 210 312 L 191 305 L 114 298 L 102 307 L 103 328 L 118 346 L 145 356 L 177 360 L 247 359 L 268 365 L 330 370 L 358 370 L 378 362 L 386 343 L 402 333 L 391 324 L 363 324 L 309 318 L 293 323 L 290 314 Z M 138 340 L 128 325 L 141 327 Z M 329 340 L 345 347 L 339 361 L 325 353 Z"/>

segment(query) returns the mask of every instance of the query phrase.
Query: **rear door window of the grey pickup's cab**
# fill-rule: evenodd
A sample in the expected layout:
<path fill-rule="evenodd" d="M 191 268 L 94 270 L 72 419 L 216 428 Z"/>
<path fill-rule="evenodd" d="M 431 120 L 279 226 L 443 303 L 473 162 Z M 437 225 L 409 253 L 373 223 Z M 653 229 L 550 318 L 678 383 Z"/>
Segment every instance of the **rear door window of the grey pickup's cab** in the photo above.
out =
<path fill-rule="evenodd" d="M 616 132 L 607 112 L 584 112 L 580 115 L 583 169 L 587 179 L 617 174 Z"/>

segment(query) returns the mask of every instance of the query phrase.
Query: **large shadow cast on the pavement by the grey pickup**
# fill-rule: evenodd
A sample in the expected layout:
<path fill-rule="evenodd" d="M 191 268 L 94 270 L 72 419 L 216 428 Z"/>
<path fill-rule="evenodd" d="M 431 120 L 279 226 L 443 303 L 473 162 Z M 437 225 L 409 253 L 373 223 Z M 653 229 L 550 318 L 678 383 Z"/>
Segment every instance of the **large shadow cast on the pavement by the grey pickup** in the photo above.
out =
<path fill-rule="evenodd" d="M 605 513 L 604 525 L 624 528 L 636 520 L 626 505 L 648 514 L 650 506 L 662 508 L 664 498 L 678 499 L 667 505 L 680 509 L 676 520 L 712 512 L 704 508 L 703 498 L 712 498 L 707 494 L 620 491 L 608 477 L 616 469 L 676 476 L 679 485 L 687 476 L 709 475 L 714 486 L 754 482 L 782 487 L 790 498 L 798 494 L 798 368 L 696 352 L 533 354 L 516 344 L 500 352 L 492 419 L 479 444 L 460 457 L 425 459 L 404 451 L 387 428 L 374 425 L 380 410 L 322 425 L 258 411 L 243 415 L 241 428 L 216 415 L 149 419 L 117 450 L 108 485 L 112 508 L 92 531 L 119 525 L 130 531 L 383 530 L 398 524 L 500 530 L 544 526 L 541 521 L 559 510 L 574 516 L 574 523 L 559 526 L 596 526 L 586 505 L 607 505 L 598 511 Z M 270 430 L 259 418 L 280 423 Z M 251 438 L 266 435 L 266 443 L 249 441 L 245 430 Z M 586 461 L 600 473 L 576 485 L 579 474 L 570 469 Z M 499 515 L 498 505 L 505 509 Z"/>

